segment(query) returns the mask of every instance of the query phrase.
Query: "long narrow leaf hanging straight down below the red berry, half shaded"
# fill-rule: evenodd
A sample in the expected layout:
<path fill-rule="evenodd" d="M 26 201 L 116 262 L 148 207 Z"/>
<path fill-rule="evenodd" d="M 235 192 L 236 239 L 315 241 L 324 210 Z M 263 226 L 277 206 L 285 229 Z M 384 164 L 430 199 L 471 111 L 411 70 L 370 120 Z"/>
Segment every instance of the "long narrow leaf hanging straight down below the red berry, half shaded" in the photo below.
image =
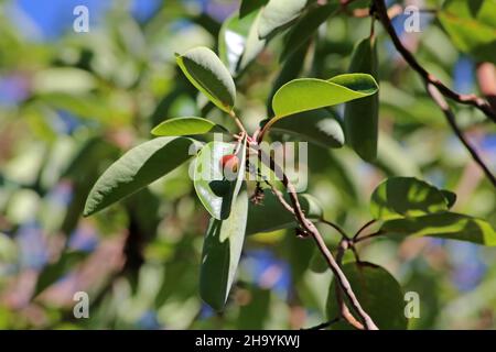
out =
<path fill-rule="evenodd" d="M 229 218 L 212 219 L 205 235 L 200 271 L 200 295 L 215 310 L 222 310 L 241 256 L 248 215 L 248 195 L 241 189 Z"/>

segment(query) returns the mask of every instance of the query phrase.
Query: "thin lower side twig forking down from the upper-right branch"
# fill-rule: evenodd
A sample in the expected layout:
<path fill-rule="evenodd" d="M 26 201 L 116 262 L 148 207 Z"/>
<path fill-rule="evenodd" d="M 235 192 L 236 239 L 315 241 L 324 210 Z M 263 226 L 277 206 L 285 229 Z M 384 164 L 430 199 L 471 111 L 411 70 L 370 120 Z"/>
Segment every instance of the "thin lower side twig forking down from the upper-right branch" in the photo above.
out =
<path fill-rule="evenodd" d="M 477 151 L 471 145 L 471 143 L 466 140 L 465 135 L 463 134 L 462 130 L 456 124 L 455 117 L 453 114 L 453 111 L 450 109 L 450 106 L 448 105 L 446 100 L 444 100 L 444 97 L 441 95 L 439 89 L 434 87 L 431 84 L 427 85 L 427 90 L 431 95 L 434 102 L 440 107 L 440 109 L 443 111 L 444 116 L 446 117 L 448 123 L 450 124 L 451 129 L 454 131 L 459 140 L 465 145 L 465 148 L 471 154 L 472 158 L 475 163 L 482 168 L 486 177 L 490 180 L 493 186 L 496 187 L 496 177 L 493 175 L 493 173 L 489 170 L 489 168 L 484 164 L 481 156 L 477 154 Z"/>

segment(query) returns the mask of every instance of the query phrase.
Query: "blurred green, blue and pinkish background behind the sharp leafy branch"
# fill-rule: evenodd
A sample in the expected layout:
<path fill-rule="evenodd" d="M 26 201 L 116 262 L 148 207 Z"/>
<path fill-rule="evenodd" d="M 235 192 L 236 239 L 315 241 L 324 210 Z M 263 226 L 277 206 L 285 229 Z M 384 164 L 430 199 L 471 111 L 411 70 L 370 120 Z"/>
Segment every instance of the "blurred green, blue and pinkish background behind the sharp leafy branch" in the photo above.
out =
<path fill-rule="evenodd" d="M 389 1 L 392 3 L 393 1 Z M 421 4 L 435 7 L 441 1 Z M 399 3 L 402 3 L 401 1 Z M 73 9 L 89 10 L 75 33 Z M 187 165 L 90 218 L 84 201 L 96 178 L 126 150 L 151 139 L 166 118 L 207 116 L 229 124 L 177 70 L 174 53 L 217 46 L 229 0 L 0 1 L 0 328 L 299 329 L 325 320 L 332 274 L 309 268 L 313 243 L 294 231 L 248 238 L 227 309 L 197 294 L 208 218 Z M 476 64 L 460 54 L 432 14 L 402 33 L 417 57 L 449 86 L 477 91 Z M 369 21 L 345 15 L 320 30 L 302 76 L 346 72 Z M 379 33 L 380 147 L 376 165 L 349 148 L 310 151 L 309 193 L 325 216 L 355 231 L 368 198 L 391 175 L 419 176 L 459 195 L 454 210 L 496 224 L 496 197 L 420 79 Z M 281 69 L 274 40 L 239 77 L 240 114 L 255 129 Z M 474 109 L 459 121 L 496 169 L 496 131 Z M 337 111 L 339 112 L 339 111 Z M 338 237 L 322 228 L 331 246 Z M 412 329 L 496 328 L 496 252 L 432 239 L 378 239 L 362 257 L 387 267 L 420 295 Z M 87 292 L 90 318 L 75 319 L 73 295 Z"/>

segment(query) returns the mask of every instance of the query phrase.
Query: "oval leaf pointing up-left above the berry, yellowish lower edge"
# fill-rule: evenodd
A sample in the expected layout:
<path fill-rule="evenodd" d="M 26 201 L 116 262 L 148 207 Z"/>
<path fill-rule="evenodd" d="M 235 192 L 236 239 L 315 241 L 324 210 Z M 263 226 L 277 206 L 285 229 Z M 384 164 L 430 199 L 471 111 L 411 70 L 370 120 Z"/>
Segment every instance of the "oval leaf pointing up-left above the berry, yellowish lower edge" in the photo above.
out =
<path fill-rule="evenodd" d="M 236 101 L 236 86 L 229 70 L 207 47 L 192 48 L 177 55 L 177 65 L 190 81 L 219 109 L 230 112 Z"/>

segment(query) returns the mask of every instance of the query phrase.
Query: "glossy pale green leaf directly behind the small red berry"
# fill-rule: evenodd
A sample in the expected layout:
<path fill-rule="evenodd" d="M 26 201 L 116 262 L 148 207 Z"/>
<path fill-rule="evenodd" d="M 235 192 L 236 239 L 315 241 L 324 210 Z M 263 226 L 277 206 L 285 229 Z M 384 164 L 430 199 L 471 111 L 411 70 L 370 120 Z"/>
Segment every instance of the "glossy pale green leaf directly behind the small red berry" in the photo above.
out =
<path fill-rule="evenodd" d="M 234 154 L 236 146 L 233 143 L 207 143 L 196 157 L 196 195 L 214 219 L 223 220 L 229 217 L 231 204 L 245 176 L 245 169 L 241 167 L 246 161 L 245 145 L 246 139 L 236 154 L 239 160 L 237 174 L 224 173 L 220 165 L 223 156 Z"/>

